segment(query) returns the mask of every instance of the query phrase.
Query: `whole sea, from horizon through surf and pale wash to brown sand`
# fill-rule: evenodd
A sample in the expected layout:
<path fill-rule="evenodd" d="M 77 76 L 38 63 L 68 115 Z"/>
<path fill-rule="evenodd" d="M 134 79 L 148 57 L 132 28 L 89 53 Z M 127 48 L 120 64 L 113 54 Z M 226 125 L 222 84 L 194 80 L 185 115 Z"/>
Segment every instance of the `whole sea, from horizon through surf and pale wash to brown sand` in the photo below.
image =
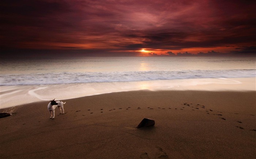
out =
<path fill-rule="evenodd" d="M 255 57 L 62 57 L 0 63 L 1 108 L 50 99 L 256 77 Z"/>

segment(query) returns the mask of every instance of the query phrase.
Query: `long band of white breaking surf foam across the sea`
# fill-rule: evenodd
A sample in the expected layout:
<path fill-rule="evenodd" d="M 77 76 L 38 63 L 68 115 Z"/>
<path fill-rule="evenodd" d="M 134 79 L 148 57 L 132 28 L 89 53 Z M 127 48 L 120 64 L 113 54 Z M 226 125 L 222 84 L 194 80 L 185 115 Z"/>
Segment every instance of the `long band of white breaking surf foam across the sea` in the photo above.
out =
<path fill-rule="evenodd" d="M 1 74 L 0 86 L 255 77 L 255 69 Z"/>

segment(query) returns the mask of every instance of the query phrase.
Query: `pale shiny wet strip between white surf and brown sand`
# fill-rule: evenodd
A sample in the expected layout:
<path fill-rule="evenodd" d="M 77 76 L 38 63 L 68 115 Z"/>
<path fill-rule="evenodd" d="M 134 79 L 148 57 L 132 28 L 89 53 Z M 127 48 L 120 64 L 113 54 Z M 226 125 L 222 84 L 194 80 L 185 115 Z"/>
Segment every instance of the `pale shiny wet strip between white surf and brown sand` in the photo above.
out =
<path fill-rule="evenodd" d="M 65 100 L 138 90 L 255 91 L 256 77 L 0 86 L 0 108 L 44 100 Z"/>

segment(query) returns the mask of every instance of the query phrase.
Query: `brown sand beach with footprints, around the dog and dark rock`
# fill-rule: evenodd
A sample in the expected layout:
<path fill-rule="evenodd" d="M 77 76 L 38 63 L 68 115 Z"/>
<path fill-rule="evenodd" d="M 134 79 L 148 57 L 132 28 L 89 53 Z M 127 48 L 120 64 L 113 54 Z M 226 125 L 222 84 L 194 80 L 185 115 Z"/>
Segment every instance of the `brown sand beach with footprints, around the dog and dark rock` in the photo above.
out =
<path fill-rule="evenodd" d="M 256 158 L 256 92 L 129 91 L 5 108 L 0 158 Z M 137 129 L 143 118 L 155 126 Z"/>

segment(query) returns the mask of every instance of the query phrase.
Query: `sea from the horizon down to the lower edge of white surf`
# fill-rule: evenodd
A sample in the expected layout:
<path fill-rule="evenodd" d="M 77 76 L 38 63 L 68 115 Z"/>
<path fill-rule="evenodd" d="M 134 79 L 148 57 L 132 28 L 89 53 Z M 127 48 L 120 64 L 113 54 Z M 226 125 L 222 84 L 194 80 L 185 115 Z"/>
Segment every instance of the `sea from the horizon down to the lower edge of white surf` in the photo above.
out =
<path fill-rule="evenodd" d="M 1 60 L 0 86 L 256 76 L 255 57 L 72 57 Z"/>

